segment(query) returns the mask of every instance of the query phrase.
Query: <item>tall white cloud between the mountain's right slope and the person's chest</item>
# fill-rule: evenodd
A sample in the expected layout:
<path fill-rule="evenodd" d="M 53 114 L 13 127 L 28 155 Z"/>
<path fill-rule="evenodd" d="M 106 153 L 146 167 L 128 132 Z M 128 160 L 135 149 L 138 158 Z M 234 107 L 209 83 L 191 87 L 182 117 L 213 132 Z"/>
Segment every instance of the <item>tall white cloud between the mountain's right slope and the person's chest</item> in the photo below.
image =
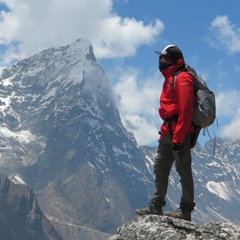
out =
<path fill-rule="evenodd" d="M 137 69 L 119 71 L 114 86 L 117 105 L 124 126 L 134 134 L 139 145 L 157 143 L 161 119 L 158 114 L 163 78 L 159 71 L 144 81 Z"/>

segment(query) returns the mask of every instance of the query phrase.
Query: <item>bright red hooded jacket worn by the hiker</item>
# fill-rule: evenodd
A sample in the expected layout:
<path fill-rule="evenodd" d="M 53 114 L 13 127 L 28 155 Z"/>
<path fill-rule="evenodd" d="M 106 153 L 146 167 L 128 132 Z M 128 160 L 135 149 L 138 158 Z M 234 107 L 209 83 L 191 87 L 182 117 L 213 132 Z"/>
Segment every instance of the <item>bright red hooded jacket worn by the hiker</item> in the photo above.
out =
<path fill-rule="evenodd" d="M 178 114 L 177 121 L 172 121 L 173 143 L 182 144 L 187 133 L 194 133 L 192 123 L 194 108 L 194 80 L 192 76 L 182 71 L 177 76 L 174 84 L 176 71 L 185 64 L 184 59 L 178 59 L 177 64 L 162 70 L 165 78 L 160 96 L 159 114 L 163 120 Z M 161 134 L 169 134 L 166 122 L 161 126 Z"/>

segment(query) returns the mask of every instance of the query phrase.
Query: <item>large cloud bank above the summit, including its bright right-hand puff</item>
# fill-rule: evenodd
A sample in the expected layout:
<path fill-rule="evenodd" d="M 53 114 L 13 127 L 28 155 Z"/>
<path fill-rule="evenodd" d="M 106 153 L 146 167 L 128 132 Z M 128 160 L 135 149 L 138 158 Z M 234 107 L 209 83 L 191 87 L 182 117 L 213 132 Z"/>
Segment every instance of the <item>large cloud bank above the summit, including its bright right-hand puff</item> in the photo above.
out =
<path fill-rule="evenodd" d="M 145 24 L 121 18 L 113 11 L 113 0 L 2 2 L 9 11 L 1 11 L 0 44 L 12 49 L 10 55 L 5 52 L 5 64 L 78 38 L 91 41 L 97 58 L 132 56 L 142 44 L 153 43 L 164 29 L 158 19 Z"/>

